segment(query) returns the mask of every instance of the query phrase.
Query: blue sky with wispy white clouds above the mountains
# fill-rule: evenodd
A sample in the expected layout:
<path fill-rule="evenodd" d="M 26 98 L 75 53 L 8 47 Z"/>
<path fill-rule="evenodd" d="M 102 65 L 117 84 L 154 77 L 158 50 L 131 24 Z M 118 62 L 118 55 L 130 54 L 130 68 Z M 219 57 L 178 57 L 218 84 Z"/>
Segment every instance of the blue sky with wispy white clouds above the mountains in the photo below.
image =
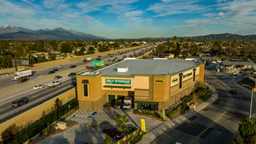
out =
<path fill-rule="evenodd" d="M 0 0 L 0 25 L 62 27 L 112 39 L 256 34 L 256 0 Z"/>

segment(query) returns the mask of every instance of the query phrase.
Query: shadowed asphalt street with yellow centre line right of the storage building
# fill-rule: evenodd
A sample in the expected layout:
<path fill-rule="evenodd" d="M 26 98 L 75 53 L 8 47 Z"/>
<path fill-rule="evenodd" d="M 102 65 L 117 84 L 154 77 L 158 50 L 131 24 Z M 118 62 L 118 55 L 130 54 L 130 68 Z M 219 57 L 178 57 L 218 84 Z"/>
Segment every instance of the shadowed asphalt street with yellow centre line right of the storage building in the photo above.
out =
<path fill-rule="evenodd" d="M 230 143 L 241 119 L 249 116 L 251 103 L 250 95 L 235 86 L 230 76 L 218 73 L 218 99 L 214 103 L 151 143 Z M 234 81 L 240 79 L 236 77 Z M 215 74 L 208 72 L 206 81 L 214 86 Z M 237 94 L 229 93 L 230 89 L 236 89 Z M 255 102 L 253 112 L 254 109 Z"/>

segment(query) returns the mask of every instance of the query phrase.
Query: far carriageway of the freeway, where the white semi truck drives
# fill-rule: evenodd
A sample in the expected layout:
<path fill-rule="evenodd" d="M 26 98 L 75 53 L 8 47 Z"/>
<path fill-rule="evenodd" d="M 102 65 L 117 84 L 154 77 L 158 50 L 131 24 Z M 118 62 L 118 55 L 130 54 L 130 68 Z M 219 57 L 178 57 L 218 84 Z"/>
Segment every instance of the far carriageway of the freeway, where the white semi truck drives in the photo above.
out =
<path fill-rule="evenodd" d="M 140 48 L 138 48 L 138 51 L 141 51 L 144 48 L 145 47 L 140 47 Z M 137 49 L 137 48 L 134 48 L 134 49 Z M 125 51 L 121 51 L 121 52 L 125 52 Z M 133 52 L 133 49 L 130 49 L 129 52 L 130 53 Z M 111 51 L 109 51 L 109 53 L 111 53 Z M 113 54 L 114 54 L 113 58 L 120 56 L 120 53 L 118 53 L 118 52 L 113 53 Z M 86 55 L 84 55 L 84 58 L 86 58 Z M 92 57 L 92 61 L 96 60 L 96 58 L 97 57 Z M 107 54 L 101 55 L 101 59 L 106 59 L 107 60 L 107 59 L 113 59 L 113 58 L 109 58 L 109 55 L 107 55 Z M 69 64 L 63 64 L 64 65 L 63 68 L 58 68 L 57 66 L 54 66 L 54 67 L 51 67 L 51 68 L 44 68 L 44 69 L 40 69 L 40 70 L 33 70 L 33 76 L 29 77 L 29 80 L 31 81 L 31 80 L 34 80 L 34 79 L 38 79 L 38 78 L 42 78 L 42 77 L 45 77 L 45 76 L 49 76 L 50 74 L 48 74 L 48 72 L 53 70 L 53 68 L 58 68 L 59 69 L 58 72 L 62 72 L 62 71 L 65 71 L 65 70 L 69 70 L 70 69 L 69 68 L 70 65 L 76 65 L 76 66 L 88 65 L 88 64 L 91 64 L 92 61 L 90 61 L 90 62 L 74 61 L 74 62 L 69 62 Z M 4 88 L 7 88 L 7 87 L 10 87 L 10 86 L 18 85 L 17 80 L 11 80 L 12 76 L 13 76 L 13 74 L 11 74 L 9 77 L 0 78 L 0 80 L 1 80 L 0 90 L 4 89 Z"/>

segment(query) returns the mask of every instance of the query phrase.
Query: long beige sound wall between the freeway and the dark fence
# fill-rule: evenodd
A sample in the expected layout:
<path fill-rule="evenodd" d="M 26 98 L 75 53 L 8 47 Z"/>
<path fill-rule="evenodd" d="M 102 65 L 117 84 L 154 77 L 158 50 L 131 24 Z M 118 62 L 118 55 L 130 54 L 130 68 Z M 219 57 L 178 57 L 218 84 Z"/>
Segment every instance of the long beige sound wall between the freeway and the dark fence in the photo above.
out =
<path fill-rule="evenodd" d="M 50 99 L 49 101 L 46 101 L 30 110 L 23 112 L 20 115 L 17 115 L 15 117 L 11 118 L 8 121 L 1 123 L 0 124 L 0 133 L 2 133 L 5 128 L 9 127 L 13 123 L 15 123 L 17 126 L 24 126 L 24 125 L 28 124 L 29 122 L 33 122 L 33 121 L 37 120 L 38 118 L 40 118 L 42 116 L 42 112 L 44 110 L 47 113 L 51 112 L 51 108 L 52 107 L 54 108 L 54 103 L 56 101 L 56 98 L 59 98 L 60 101 L 62 101 L 62 103 L 64 104 L 75 97 L 76 97 L 75 88 L 71 89 L 69 91 L 66 91 L 66 92 L 62 93 L 61 95 Z"/>

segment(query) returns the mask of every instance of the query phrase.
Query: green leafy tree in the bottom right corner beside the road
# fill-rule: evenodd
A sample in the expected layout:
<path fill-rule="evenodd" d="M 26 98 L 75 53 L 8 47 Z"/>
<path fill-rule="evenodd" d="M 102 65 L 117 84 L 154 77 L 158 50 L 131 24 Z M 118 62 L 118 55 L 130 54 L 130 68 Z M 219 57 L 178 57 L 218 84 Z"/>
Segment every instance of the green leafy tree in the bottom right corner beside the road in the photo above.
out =
<path fill-rule="evenodd" d="M 239 124 L 238 134 L 233 143 L 256 143 L 256 122 L 252 118 L 243 119 Z"/>

